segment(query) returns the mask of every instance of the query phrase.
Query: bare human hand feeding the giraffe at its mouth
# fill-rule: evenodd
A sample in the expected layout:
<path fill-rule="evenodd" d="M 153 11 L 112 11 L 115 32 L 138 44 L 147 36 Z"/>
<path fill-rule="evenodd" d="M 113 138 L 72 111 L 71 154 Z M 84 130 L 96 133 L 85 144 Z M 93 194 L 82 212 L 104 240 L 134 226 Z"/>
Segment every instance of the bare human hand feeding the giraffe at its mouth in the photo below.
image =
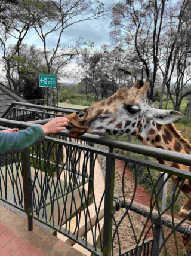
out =
<path fill-rule="evenodd" d="M 58 133 L 61 130 L 66 130 L 66 126 L 69 123 L 69 120 L 66 117 L 56 117 L 53 120 L 42 126 L 44 134 Z"/>

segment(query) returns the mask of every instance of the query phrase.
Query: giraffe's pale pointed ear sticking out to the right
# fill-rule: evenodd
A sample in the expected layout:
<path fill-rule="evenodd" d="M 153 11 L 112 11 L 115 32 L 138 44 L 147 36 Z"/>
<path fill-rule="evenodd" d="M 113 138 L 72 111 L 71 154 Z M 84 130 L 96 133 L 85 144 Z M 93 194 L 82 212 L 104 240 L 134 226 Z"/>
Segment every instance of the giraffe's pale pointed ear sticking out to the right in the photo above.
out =
<path fill-rule="evenodd" d="M 153 111 L 153 120 L 158 124 L 169 124 L 183 117 L 183 114 L 174 110 L 156 109 Z"/>

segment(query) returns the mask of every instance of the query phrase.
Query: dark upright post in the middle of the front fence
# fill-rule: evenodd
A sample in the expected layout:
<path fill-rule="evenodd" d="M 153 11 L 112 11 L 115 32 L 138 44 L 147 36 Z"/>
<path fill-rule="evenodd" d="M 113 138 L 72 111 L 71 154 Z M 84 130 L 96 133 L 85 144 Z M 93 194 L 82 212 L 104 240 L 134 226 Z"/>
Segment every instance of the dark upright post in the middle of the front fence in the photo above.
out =
<path fill-rule="evenodd" d="M 112 152 L 112 148 L 110 148 Z M 115 159 L 106 156 L 105 199 L 104 199 L 104 224 L 103 224 L 103 256 L 112 252 L 112 211 L 115 182 Z"/>

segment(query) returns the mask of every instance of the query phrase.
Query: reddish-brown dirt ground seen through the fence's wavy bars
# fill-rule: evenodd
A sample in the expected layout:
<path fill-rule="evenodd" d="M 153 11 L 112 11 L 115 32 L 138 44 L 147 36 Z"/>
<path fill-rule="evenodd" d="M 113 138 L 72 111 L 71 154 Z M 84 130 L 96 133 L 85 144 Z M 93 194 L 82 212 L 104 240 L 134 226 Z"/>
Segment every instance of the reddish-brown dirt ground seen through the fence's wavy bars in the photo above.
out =
<path fill-rule="evenodd" d="M 122 173 L 124 170 L 124 163 L 120 160 L 116 160 L 116 170 L 115 170 L 115 196 L 122 196 Z M 125 171 L 125 182 L 124 182 L 124 191 L 125 191 L 125 198 L 131 199 L 134 193 L 134 178 L 130 170 Z M 135 194 L 134 201 L 141 203 L 142 205 L 150 206 L 150 194 L 141 187 L 140 185 L 137 186 L 137 192 Z M 120 197 L 123 200 L 123 197 Z M 122 216 L 125 213 L 125 208 L 120 209 L 120 211 L 115 212 L 115 221 L 119 223 Z M 122 220 L 121 224 L 119 225 L 118 232 L 120 237 L 120 245 L 121 245 L 121 254 L 127 252 L 130 248 L 136 245 L 135 236 L 137 240 L 140 237 L 141 231 L 143 230 L 144 224 L 146 223 L 146 218 L 142 217 L 139 214 L 135 214 L 135 212 L 130 211 L 130 218 L 134 227 L 135 234 L 133 233 L 133 229 L 131 228 L 130 221 L 128 220 L 127 214 L 125 215 L 124 220 Z M 150 222 L 147 224 L 146 230 L 144 234 L 146 234 L 147 228 L 150 226 Z M 113 225 L 113 231 L 115 230 L 115 225 Z M 170 233 L 170 228 L 165 228 L 164 234 L 165 237 Z M 144 234 L 142 236 L 141 241 L 143 240 Z M 152 237 L 152 230 L 149 231 L 147 234 L 147 239 Z M 184 251 L 183 242 L 181 240 L 180 233 L 176 233 L 177 243 L 180 251 Z M 174 242 L 174 235 L 168 239 L 166 243 L 167 248 L 167 256 L 176 256 L 177 250 L 175 249 L 175 242 Z M 114 255 L 119 255 L 119 242 L 118 237 L 115 235 L 114 240 L 114 248 L 113 248 Z M 164 251 L 160 254 L 165 255 Z M 183 256 L 183 253 L 180 253 Z"/>

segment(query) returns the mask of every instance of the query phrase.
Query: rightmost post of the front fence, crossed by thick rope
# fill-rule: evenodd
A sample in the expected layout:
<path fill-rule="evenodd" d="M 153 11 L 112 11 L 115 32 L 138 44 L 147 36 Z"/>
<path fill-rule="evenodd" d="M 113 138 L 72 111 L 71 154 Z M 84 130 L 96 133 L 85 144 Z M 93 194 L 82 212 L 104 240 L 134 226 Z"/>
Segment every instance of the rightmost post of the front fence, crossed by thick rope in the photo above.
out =
<path fill-rule="evenodd" d="M 164 184 L 165 179 L 167 179 L 167 173 L 165 173 L 165 175 L 163 175 L 163 173 L 159 173 L 159 181 L 158 181 L 158 186 L 157 186 L 157 192 L 158 192 L 158 199 L 159 201 L 161 201 L 161 212 L 164 211 L 164 209 L 166 208 L 166 203 L 167 203 L 167 185 L 168 185 L 168 181 Z M 162 187 L 162 184 L 164 184 L 164 186 Z M 162 187 L 162 188 L 161 188 Z M 160 192 L 159 192 L 160 191 Z M 162 237 L 162 232 L 163 232 L 164 226 L 160 225 L 160 223 L 156 223 L 154 228 L 153 228 L 153 232 L 154 232 L 154 239 L 153 239 L 153 251 L 152 251 L 152 255 L 158 255 L 159 252 L 159 248 L 161 247 L 162 243 L 163 243 L 163 237 Z"/>

